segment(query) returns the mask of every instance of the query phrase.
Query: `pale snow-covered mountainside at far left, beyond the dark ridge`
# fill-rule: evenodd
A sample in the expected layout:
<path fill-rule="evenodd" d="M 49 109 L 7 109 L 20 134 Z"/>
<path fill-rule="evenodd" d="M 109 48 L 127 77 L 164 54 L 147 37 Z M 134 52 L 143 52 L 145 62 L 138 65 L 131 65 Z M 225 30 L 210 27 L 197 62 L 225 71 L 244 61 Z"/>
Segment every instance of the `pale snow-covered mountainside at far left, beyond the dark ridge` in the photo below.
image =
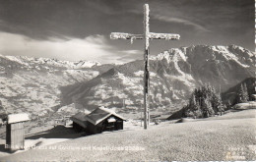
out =
<path fill-rule="evenodd" d="M 99 63 L 0 55 L 0 113 L 27 112 L 34 119 L 55 114 L 59 87 L 95 78 L 93 66 Z"/>

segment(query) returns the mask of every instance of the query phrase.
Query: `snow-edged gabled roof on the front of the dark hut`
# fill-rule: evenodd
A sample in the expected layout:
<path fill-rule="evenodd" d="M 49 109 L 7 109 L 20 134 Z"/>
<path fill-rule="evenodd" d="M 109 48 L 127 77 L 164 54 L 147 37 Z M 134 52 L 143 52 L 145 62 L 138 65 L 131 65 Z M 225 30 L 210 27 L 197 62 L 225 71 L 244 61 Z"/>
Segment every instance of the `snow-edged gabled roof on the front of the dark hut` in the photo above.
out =
<path fill-rule="evenodd" d="M 117 118 L 120 118 L 122 120 L 125 120 L 122 116 L 116 114 L 113 110 L 104 108 L 104 107 L 99 107 L 96 110 L 94 110 L 92 113 L 87 115 L 85 118 L 92 124 L 97 125 L 107 117 L 114 115 Z"/>

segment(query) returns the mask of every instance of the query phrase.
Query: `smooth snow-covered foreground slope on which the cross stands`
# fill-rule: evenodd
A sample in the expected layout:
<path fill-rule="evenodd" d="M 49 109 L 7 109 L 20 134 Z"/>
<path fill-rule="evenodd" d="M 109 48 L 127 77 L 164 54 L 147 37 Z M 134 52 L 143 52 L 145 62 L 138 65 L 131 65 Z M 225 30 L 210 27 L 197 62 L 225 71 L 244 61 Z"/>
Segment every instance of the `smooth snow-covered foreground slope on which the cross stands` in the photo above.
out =
<path fill-rule="evenodd" d="M 89 135 L 4 156 L 14 161 L 256 160 L 255 110 L 188 123 Z"/>

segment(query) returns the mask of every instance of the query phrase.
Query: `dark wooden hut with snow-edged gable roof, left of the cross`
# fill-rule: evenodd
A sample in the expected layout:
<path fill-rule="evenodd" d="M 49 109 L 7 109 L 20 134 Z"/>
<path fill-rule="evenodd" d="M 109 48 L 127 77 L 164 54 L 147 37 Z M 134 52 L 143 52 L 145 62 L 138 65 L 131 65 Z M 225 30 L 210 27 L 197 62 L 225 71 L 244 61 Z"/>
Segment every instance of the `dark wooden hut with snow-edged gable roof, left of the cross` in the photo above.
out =
<path fill-rule="evenodd" d="M 114 111 L 99 107 L 88 115 L 77 114 L 71 118 L 73 127 L 83 128 L 89 134 L 123 130 L 125 119 Z"/>

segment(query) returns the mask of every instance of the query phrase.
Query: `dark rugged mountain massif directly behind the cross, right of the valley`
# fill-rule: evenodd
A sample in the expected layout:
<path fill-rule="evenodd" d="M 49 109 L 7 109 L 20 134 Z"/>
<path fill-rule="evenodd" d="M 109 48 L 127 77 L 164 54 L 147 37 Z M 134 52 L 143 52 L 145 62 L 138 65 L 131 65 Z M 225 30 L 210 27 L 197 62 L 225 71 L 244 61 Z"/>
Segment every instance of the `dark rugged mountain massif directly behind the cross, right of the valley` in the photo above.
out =
<path fill-rule="evenodd" d="M 218 90 L 253 77 L 255 53 L 239 46 L 174 48 L 150 61 L 151 109 L 182 106 L 192 90 L 211 83 Z M 71 88 L 72 87 L 72 88 Z M 98 105 L 138 110 L 143 101 L 143 61 L 116 66 L 87 82 L 62 87 L 62 103 L 93 109 Z"/>

